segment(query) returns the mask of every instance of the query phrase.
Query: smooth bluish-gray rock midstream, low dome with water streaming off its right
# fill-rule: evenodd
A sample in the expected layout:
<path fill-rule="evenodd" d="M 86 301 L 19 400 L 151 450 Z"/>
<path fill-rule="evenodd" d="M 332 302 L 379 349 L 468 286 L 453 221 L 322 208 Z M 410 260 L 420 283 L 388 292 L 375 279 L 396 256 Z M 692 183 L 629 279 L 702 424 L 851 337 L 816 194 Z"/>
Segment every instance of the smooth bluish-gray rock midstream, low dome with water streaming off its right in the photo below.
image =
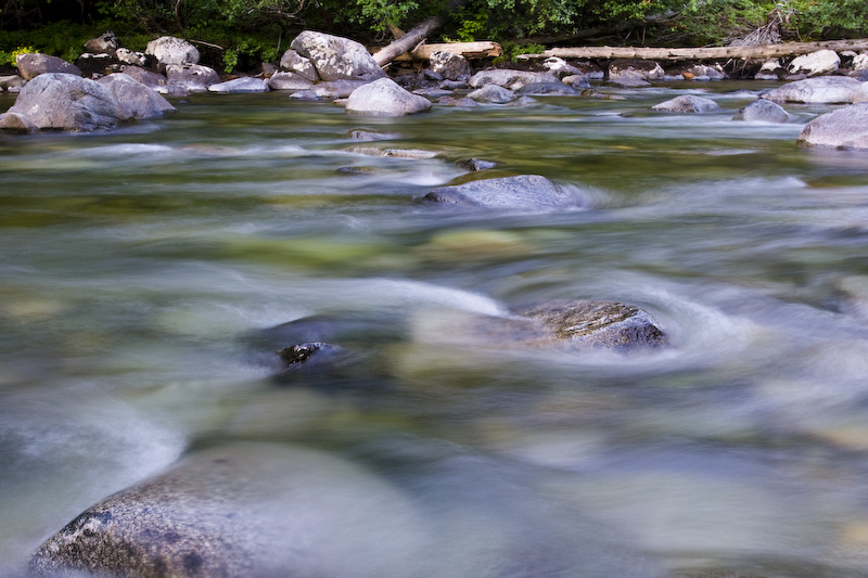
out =
<path fill-rule="evenodd" d="M 546 210 L 585 205 L 572 194 L 539 175 L 481 179 L 430 191 L 425 200 L 468 207 Z"/>

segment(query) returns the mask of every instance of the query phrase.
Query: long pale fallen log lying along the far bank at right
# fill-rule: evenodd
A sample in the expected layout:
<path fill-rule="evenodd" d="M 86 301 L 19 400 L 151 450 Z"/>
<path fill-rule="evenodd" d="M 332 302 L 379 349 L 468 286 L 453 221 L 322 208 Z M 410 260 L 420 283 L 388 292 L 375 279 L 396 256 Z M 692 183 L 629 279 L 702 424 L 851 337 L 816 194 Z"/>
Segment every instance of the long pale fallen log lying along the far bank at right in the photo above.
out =
<path fill-rule="evenodd" d="M 552 48 L 538 54 L 521 54 L 521 60 L 548 59 L 638 59 L 654 61 L 704 61 L 704 60 L 768 60 L 781 56 L 799 56 L 818 50 L 868 50 L 868 38 L 857 40 L 826 40 L 821 42 L 781 42 L 753 47 L 705 47 L 705 48 L 641 48 L 641 47 L 580 47 Z"/>

